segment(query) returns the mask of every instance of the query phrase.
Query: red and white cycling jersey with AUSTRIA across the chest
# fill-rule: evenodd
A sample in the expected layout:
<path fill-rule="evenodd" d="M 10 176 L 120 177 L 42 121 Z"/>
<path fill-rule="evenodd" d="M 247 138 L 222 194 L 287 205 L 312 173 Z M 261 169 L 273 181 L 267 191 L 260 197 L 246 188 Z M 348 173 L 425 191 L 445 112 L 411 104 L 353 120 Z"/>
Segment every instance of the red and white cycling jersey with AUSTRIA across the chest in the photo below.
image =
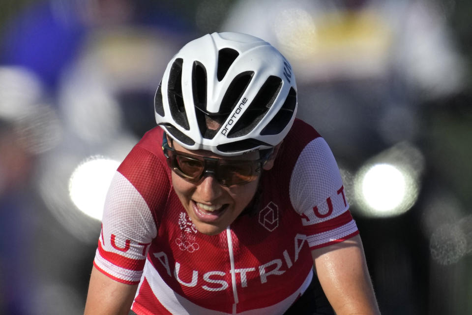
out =
<path fill-rule="evenodd" d="M 150 130 L 118 168 L 105 203 L 95 267 L 139 284 L 141 314 L 283 314 L 313 277 L 311 250 L 358 233 L 336 161 L 300 120 L 261 179 L 258 211 L 217 235 L 182 207 Z"/>

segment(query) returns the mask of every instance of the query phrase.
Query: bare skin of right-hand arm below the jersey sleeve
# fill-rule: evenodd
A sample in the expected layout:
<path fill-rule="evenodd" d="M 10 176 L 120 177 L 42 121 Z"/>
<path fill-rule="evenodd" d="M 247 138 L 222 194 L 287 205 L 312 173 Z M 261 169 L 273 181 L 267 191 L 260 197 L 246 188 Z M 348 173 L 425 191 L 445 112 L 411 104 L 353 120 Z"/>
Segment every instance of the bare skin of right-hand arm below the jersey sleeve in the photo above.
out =
<path fill-rule="evenodd" d="M 312 256 L 318 279 L 337 315 L 380 314 L 359 235 L 315 249 Z"/>

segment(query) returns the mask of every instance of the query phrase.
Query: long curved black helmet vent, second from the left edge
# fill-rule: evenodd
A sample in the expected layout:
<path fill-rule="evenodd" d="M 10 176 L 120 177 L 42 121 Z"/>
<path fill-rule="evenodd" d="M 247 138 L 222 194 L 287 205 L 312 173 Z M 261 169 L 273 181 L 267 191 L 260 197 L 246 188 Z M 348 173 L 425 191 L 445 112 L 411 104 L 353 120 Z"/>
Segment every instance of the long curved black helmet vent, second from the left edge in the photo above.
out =
<path fill-rule="evenodd" d="M 172 64 L 169 73 L 169 89 L 167 95 L 172 118 L 181 127 L 189 130 L 190 127 L 188 125 L 187 115 L 185 113 L 185 105 L 182 97 L 182 63 L 183 60 L 178 58 Z"/>

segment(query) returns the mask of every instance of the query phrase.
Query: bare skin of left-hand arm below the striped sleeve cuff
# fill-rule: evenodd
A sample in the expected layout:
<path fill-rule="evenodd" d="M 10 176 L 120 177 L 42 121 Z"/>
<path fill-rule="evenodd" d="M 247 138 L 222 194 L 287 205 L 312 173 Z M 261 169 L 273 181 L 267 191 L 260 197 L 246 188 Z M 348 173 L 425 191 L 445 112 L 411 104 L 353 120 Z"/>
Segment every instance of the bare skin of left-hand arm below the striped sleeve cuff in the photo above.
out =
<path fill-rule="evenodd" d="M 122 284 L 93 267 L 84 315 L 128 315 L 137 288 L 137 284 Z"/>

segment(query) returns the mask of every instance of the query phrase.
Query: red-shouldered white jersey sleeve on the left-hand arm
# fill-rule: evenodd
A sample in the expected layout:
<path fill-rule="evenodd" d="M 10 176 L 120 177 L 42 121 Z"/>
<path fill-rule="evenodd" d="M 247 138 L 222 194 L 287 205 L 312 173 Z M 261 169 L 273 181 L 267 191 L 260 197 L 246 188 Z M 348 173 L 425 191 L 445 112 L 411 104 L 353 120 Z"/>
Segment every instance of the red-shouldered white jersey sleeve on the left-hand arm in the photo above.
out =
<path fill-rule="evenodd" d="M 149 245 L 157 235 L 155 209 L 168 197 L 168 176 L 158 158 L 135 147 L 115 174 L 105 200 L 93 261 L 108 277 L 139 284 Z"/>

